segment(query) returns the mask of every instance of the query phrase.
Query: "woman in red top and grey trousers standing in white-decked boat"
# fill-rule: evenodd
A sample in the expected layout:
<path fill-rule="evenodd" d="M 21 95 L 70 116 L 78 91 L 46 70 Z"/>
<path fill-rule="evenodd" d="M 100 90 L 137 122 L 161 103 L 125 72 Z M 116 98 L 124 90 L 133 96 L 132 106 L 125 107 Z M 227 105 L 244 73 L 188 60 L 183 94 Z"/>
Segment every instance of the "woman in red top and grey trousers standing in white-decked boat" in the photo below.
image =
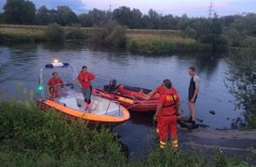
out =
<path fill-rule="evenodd" d="M 89 71 L 87 71 L 87 66 L 83 66 L 82 70 L 79 72 L 78 81 L 76 83 L 81 84 L 82 93 L 85 98 L 86 108 L 85 111 L 89 111 L 92 108 L 91 104 L 91 95 L 92 95 L 92 80 L 95 79 L 95 75 Z M 74 84 L 76 84 L 74 83 Z"/>

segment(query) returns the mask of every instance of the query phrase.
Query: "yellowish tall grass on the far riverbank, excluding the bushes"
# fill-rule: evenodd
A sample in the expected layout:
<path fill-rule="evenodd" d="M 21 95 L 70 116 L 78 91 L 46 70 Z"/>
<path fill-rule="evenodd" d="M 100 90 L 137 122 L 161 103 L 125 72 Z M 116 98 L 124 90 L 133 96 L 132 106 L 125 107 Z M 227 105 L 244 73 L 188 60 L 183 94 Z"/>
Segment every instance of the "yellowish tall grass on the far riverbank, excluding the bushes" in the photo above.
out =
<path fill-rule="evenodd" d="M 65 26 L 65 40 L 75 37 L 90 40 L 93 28 Z M 0 25 L 0 43 L 47 41 L 43 25 Z M 168 54 L 175 52 L 211 52 L 211 46 L 190 38 L 183 38 L 178 30 L 136 30 L 126 31 L 126 48 L 135 53 Z"/>

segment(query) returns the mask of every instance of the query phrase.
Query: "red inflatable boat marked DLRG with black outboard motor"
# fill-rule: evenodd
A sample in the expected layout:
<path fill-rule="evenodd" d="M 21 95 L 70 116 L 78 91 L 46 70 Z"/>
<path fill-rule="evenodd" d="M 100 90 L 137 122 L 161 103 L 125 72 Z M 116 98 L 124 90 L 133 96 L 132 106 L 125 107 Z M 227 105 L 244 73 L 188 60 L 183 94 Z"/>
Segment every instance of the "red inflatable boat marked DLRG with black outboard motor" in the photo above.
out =
<path fill-rule="evenodd" d="M 100 95 L 102 98 L 117 100 L 120 105 L 134 112 L 155 112 L 159 94 L 155 94 L 150 100 L 146 101 L 147 94 L 151 90 L 144 88 L 118 84 L 117 81 L 111 80 L 109 85 L 105 85 L 103 90 L 94 89 L 94 95 Z"/>

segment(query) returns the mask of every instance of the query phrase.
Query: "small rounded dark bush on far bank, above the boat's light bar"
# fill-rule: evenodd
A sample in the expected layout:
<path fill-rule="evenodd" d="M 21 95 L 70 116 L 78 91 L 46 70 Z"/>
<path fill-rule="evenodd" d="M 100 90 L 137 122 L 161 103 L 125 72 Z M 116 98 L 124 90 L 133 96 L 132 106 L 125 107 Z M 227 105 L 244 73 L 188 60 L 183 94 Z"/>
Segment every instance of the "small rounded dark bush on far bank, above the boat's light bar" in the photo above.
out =
<path fill-rule="evenodd" d="M 45 31 L 45 36 L 51 41 L 63 41 L 64 40 L 64 29 L 56 23 L 49 24 Z"/>

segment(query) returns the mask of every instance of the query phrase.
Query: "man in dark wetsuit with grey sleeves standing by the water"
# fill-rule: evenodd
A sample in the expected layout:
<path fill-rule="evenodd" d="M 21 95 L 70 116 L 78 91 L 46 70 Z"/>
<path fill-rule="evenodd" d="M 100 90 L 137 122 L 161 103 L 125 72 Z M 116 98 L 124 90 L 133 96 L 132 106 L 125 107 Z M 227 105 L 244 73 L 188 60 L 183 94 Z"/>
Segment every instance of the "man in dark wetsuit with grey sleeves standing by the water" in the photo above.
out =
<path fill-rule="evenodd" d="M 196 69 L 194 67 L 190 67 L 188 69 L 188 74 L 191 77 L 189 89 L 188 89 L 188 105 L 190 111 L 190 118 L 188 122 L 192 123 L 188 129 L 198 128 L 199 125 L 195 123 L 196 120 L 196 112 L 195 112 L 195 103 L 198 98 L 198 93 L 200 91 L 200 76 L 196 75 Z"/>

